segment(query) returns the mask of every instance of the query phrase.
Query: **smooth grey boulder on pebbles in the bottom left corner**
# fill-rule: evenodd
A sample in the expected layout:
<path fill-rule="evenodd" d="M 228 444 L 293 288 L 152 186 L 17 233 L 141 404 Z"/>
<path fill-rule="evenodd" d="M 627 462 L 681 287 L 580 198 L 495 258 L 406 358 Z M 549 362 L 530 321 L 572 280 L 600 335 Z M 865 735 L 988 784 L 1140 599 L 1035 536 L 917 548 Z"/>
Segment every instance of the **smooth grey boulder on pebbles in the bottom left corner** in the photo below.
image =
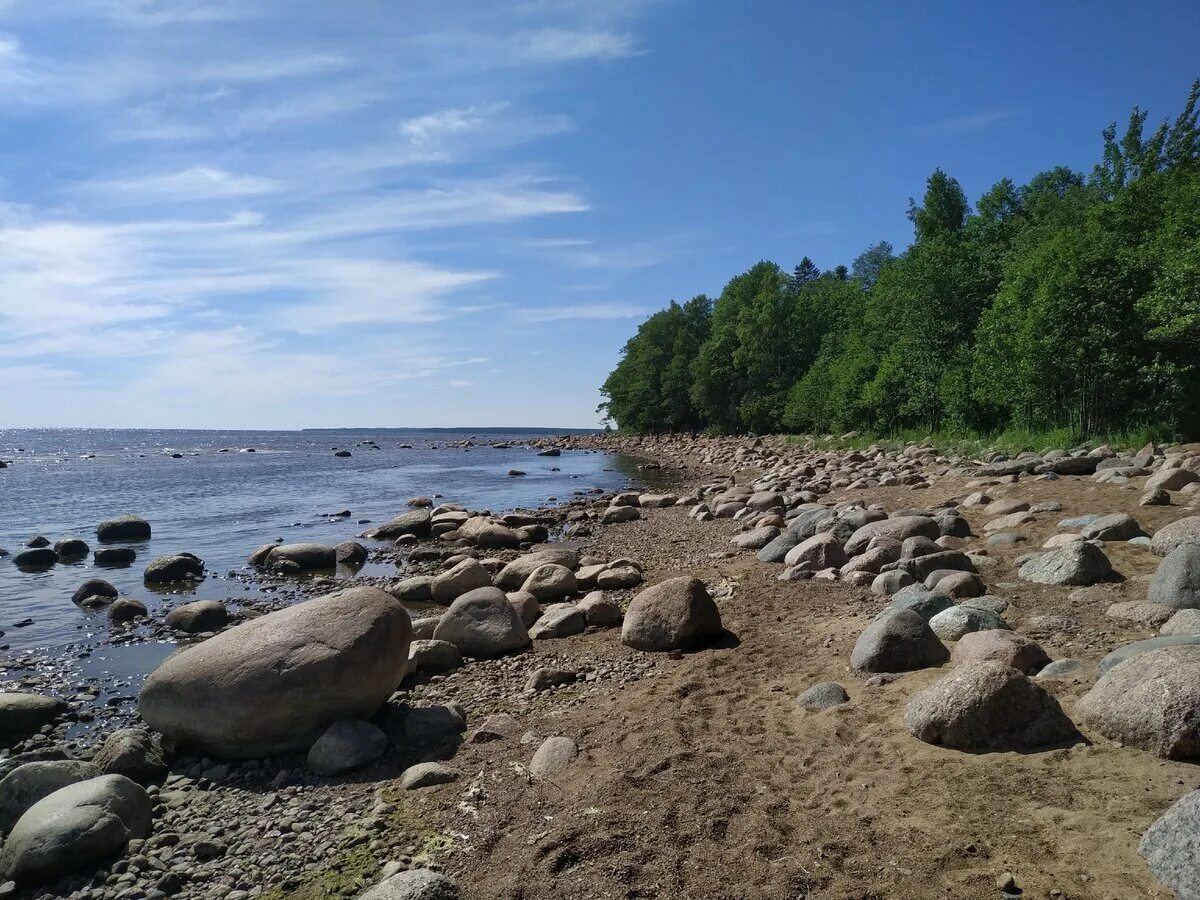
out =
<path fill-rule="evenodd" d="M 60 787 L 13 826 L 0 851 L 0 877 L 54 881 L 88 869 L 150 833 L 151 800 L 124 775 L 101 775 Z"/>

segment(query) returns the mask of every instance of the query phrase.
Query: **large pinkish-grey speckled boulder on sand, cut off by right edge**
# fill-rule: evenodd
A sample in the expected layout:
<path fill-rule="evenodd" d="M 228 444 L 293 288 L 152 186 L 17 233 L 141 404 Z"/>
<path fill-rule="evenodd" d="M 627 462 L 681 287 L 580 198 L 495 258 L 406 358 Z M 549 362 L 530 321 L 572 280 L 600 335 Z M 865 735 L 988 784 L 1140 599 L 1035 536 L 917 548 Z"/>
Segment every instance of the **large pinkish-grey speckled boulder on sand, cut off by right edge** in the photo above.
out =
<path fill-rule="evenodd" d="M 1200 760 L 1200 646 L 1163 647 L 1108 670 L 1075 707 L 1110 740 Z"/>

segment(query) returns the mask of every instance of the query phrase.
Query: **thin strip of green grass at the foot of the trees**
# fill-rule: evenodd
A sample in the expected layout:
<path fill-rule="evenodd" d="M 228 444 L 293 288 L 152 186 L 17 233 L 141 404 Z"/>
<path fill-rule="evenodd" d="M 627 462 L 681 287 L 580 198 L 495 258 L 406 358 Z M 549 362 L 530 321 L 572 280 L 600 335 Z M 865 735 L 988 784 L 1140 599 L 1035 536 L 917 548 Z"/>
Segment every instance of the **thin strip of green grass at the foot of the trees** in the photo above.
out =
<path fill-rule="evenodd" d="M 1108 444 L 1114 450 L 1138 450 L 1151 442 L 1169 443 L 1171 439 L 1172 436 L 1168 431 L 1156 427 L 1129 428 L 1111 434 L 1093 436 L 1085 436 L 1072 428 L 1055 428 L 1050 431 L 1008 428 L 995 434 L 948 431 L 931 433 L 910 428 L 893 434 L 850 432 L 840 436 L 788 436 L 788 440 L 793 443 L 808 444 L 818 450 L 865 450 L 869 446 L 899 450 L 908 444 L 931 444 L 942 454 L 968 456 L 972 458 L 992 452 L 1015 456 L 1025 451 L 1073 450 L 1075 448 L 1096 448 L 1104 444 Z"/>

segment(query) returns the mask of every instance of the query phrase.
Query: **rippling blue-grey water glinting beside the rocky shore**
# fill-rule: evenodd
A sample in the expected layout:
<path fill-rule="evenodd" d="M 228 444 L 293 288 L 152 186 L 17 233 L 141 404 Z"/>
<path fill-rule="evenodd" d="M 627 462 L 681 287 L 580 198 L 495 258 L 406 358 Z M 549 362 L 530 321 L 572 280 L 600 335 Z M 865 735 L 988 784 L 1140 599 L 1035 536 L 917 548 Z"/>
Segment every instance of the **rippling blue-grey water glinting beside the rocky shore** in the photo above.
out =
<path fill-rule="evenodd" d="M 446 446 L 469 437 L 522 442 L 553 433 L 562 432 L 0 430 L 0 458 L 12 461 L 0 469 L 0 547 L 16 553 L 35 534 L 50 541 L 83 538 L 92 550 L 122 546 L 96 541 L 96 524 L 122 514 L 143 516 L 154 529 L 149 541 L 127 545 L 138 554 L 127 569 L 97 568 L 89 556 L 30 572 L 17 569 L 12 557 L 0 559 L 0 646 L 53 654 L 80 641 L 102 641 L 108 629 L 103 611 L 71 602 L 89 577 L 110 581 L 152 612 L 197 598 L 236 600 L 258 587 L 227 574 L 244 570 L 258 545 L 280 538 L 347 540 L 367 527 L 360 520 L 386 521 L 406 511 L 410 497 L 440 496 L 500 512 L 545 505 L 551 497 L 565 500 L 593 487 L 618 490 L 636 478 L 636 461 L 628 457 L 583 451 L 542 457 L 520 443 L 509 449 Z M 360 445 L 365 440 L 379 449 Z M 246 448 L 254 452 L 241 451 Z M 332 448 L 353 456 L 335 457 Z M 184 456 L 172 458 L 170 452 Z M 509 469 L 527 474 L 510 478 Z M 346 509 L 349 518 L 329 516 Z M 145 564 L 180 551 L 204 559 L 210 576 L 187 592 L 148 588 Z M 395 572 L 395 566 L 368 564 L 362 571 Z M 166 644 L 156 653 L 161 658 L 169 649 Z M 100 674 L 103 658 L 130 674 L 145 671 L 144 650 L 107 644 L 104 650 L 107 656 L 97 650 L 82 668 Z"/>

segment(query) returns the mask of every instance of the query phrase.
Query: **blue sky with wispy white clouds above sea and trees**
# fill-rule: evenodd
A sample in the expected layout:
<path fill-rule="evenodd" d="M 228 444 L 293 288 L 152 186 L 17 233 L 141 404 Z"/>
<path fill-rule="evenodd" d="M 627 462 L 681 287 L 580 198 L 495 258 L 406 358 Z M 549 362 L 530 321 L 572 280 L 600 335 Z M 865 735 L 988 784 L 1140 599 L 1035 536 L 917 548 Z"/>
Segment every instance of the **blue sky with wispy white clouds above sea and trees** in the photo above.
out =
<path fill-rule="evenodd" d="M 670 300 L 1174 116 L 1129 10 L 0 0 L 0 427 L 595 426 Z"/>

